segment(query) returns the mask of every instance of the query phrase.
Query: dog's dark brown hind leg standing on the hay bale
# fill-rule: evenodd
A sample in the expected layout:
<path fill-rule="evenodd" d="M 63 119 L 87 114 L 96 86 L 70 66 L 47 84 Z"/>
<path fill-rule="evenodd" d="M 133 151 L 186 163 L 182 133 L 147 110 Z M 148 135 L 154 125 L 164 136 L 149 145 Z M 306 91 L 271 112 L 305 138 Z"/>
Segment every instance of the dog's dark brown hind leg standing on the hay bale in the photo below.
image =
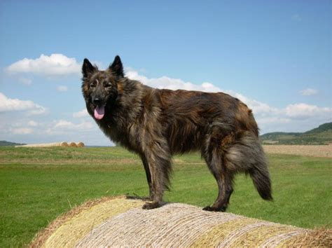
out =
<path fill-rule="evenodd" d="M 233 193 L 233 172 L 227 170 L 224 153 L 218 143 L 209 140 L 207 149 L 202 154 L 218 184 L 216 201 L 212 206 L 207 206 L 203 210 L 224 212 L 228 207 L 230 195 Z"/>

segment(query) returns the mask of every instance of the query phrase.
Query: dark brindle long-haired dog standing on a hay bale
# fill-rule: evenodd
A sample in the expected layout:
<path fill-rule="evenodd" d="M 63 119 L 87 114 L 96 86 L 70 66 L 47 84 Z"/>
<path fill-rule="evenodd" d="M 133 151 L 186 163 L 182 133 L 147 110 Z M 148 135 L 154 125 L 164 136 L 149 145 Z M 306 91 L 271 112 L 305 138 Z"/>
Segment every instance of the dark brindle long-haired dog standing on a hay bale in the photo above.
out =
<path fill-rule="evenodd" d="M 137 153 L 148 181 L 143 209 L 160 207 L 170 188 L 172 155 L 200 151 L 218 184 L 207 211 L 226 211 L 237 172 L 251 176 L 259 195 L 272 200 L 265 153 L 251 109 L 223 92 L 148 87 L 125 77 L 119 56 L 101 71 L 83 61 L 86 108 L 113 142 Z"/>

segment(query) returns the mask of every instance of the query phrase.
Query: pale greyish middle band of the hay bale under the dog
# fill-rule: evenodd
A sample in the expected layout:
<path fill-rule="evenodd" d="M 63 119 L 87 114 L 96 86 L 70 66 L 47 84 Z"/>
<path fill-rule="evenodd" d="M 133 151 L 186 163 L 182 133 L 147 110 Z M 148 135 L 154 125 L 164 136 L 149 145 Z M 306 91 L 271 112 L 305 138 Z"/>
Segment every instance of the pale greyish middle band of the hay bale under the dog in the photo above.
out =
<path fill-rule="evenodd" d="M 119 214 L 94 228 L 76 247 L 106 247 L 109 244 L 130 247 L 186 247 L 207 228 L 236 218 L 242 217 L 205 212 L 197 207 L 178 203 L 149 211 L 137 208 Z"/>

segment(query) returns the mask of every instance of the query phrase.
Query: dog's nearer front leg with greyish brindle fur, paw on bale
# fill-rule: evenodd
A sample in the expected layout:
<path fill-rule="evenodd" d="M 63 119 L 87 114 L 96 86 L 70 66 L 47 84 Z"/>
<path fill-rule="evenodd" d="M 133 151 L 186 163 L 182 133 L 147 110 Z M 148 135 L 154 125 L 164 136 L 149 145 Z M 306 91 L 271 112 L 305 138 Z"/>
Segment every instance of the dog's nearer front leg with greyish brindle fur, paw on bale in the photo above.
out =
<path fill-rule="evenodd" d="M 153 142 L 146 151 L 146 161 L 151 173 L 152 202 L 146 202 L 144 209 L 160 207 L 165 189 L 170 185 L 171 155 L 167 142 Z"/>

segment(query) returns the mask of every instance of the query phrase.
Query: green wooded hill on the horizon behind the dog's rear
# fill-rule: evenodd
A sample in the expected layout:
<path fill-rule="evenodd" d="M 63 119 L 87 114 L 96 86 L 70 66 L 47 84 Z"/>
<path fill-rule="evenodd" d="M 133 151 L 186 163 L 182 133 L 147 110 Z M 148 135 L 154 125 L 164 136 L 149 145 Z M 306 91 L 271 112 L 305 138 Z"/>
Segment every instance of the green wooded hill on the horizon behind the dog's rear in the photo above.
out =
<path fill-rule="evenodd" d="M 329 144 L 332 143 L 332 123 L 307 132 L 269 132 L 260 138 L 263 144 Z"/>

